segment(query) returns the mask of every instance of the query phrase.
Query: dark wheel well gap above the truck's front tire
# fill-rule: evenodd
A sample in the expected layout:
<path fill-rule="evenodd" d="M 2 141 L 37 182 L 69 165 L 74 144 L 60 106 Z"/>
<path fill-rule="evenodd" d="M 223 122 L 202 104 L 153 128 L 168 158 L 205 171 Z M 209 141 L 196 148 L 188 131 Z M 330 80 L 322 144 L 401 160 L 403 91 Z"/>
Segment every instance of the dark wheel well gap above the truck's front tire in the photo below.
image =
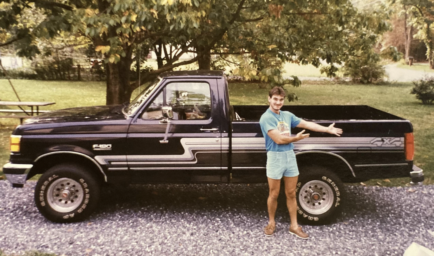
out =
<path fill-rule="evenodd" d="M 105 181 L 104 174 L 99 169 L 99 166 L 95 164 L 95 162 L 92 162 L 92 160 L 87 157 L 70 153 L 53 154 L 38 159 L 38 161 L 36 161 L 29 174 L 27 175 L 27 179 L 30 179 L 37 174 L 43 174 L 44 172 L 46 172 L 46 170 L 50 169 L 54 165 L 66 162 L 72 162 L 82 165 L 85 167 L 86 170 L 89 170 L 92 175 L 95 175 L 95 177 L 99 181 Z"/>

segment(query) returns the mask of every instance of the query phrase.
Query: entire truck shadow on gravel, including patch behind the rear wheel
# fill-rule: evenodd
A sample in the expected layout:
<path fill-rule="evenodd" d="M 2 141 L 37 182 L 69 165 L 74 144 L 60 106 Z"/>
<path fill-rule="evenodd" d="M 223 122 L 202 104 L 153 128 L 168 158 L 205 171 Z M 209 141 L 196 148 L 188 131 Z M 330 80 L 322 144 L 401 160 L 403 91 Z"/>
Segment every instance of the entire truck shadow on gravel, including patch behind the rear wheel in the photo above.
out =
<path fill-rule="evenodd" d="M 375 192 L 363 188 L 345 188 L 346 197 L 342 206 L 343 214 L 335 222 L 354 218 L 372 218 L 378 214 Z M 373 193 L 374 192 L 374 193 Z M 128 214 L 148 212 L 195 213 L 205 215 L 209 212 L 236 213 L 237 211 L 266 216 L 266 184 L 196 184 L 196 185 L 129 185 L 125 188 L 105 190 L 97 215 L 107 213 Z M 390 211 L 394 204 L 382 202 L 380 211 Z M 397 210 L 397 209 L 393 209 Z M 279 195 L 276 216 L 286 218 L 287 209 L 284 194 Z"/>

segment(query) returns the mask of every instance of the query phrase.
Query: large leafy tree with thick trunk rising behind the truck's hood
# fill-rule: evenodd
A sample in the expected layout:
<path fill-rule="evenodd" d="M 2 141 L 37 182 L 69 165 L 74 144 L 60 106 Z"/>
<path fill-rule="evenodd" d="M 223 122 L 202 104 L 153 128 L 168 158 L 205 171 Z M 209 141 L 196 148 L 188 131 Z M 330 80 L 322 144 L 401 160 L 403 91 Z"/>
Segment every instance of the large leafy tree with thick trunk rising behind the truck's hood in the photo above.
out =
<path fill-rule="evenodd" d="M 27 6 L 16 1 L 9 3 L 22 8 L 12 8 L 15 20 L 25 8 L 43 8 L 53 34 L 67 30 L 92 40 L 107 63 L 107 104 L 128 101 L 138 84 L 161 72 L 194 62 L 209 69 L 211 54 L 233 62 L 246 79 L 273 84 L 285 83 L 283 62 L 318 67 L 324 59 L 329 67 L 323 71 L 334 75 L 336 63 L 370 58 L 369 49 L 387 28 L 378 13 L 359 13 L 349 0 L 33 0 Z M 59 24 L 50 23 L 56 20 Z M 42 35 L 26 32 L 28 45 Z M 11 38 L 18 44 L 26 37 Z M 137 49 L 155 49 L 159 56 L 158 69 L 143 73 L 139 83 L 131 81 L 130 70 Z M 195 57 L 180 61 L 187 52 Z"/>

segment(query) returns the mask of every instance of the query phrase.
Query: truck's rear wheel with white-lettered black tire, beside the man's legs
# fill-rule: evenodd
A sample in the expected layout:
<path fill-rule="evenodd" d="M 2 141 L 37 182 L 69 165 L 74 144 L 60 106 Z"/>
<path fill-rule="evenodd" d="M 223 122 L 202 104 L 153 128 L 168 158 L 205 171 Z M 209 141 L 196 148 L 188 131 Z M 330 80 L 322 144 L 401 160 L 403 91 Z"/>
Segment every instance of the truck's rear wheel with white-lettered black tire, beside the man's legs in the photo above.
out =
<path fill-rule="evenodd" d="M 300 169 L 296 186 L 300 222 L 309 225 L 332 222 L 342 212 L 344 197 L 342 181 L 328 169 L 319 166 Z"/>

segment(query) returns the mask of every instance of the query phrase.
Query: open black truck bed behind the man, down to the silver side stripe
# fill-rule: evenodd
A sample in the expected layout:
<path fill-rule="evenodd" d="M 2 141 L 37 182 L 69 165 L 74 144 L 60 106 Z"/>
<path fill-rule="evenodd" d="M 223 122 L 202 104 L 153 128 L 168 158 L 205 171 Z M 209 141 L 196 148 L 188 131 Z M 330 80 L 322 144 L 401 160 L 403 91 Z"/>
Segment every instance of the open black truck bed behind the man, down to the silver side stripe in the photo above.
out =
<path fill-rule="evenodd" d="M 259 119 L 267 108 L 268 106 L 233 106 L 236 113 L 232 114 L 233 136 L 254 133 L 256 137 L 262 137 Z M 413 132 L 410 121 L 366 105 L 283 106 L 281 110 L 324 126 L 336 123 L 336 127 L 344 130 L 343 137 L 402 137 L 404 133 Z M 291 132 L 296 134 L 301 130 L 296 128 Z M 326 133 L 309 133 L 311 137 L 334 137 Z"/>

